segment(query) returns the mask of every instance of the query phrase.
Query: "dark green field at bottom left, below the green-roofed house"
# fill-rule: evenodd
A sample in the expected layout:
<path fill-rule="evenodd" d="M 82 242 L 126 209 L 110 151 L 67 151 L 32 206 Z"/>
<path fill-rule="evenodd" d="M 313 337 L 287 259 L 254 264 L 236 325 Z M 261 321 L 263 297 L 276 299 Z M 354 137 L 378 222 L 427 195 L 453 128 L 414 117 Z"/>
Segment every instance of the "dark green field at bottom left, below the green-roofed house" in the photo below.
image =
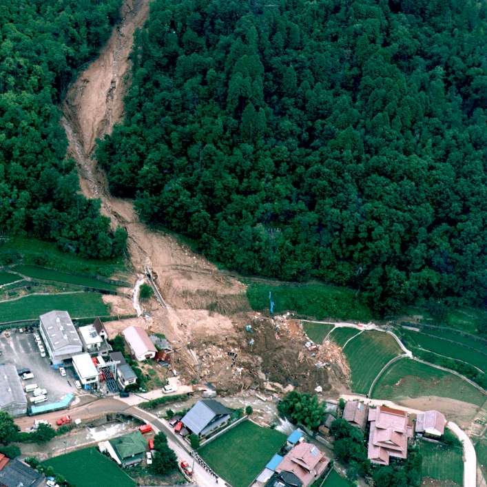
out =
<path fill-rule="evenodd" d="M 118 465 L 96 448 L 83 448 L 43 462 L 76 487 L 135 487 L 136 483 Z"/>

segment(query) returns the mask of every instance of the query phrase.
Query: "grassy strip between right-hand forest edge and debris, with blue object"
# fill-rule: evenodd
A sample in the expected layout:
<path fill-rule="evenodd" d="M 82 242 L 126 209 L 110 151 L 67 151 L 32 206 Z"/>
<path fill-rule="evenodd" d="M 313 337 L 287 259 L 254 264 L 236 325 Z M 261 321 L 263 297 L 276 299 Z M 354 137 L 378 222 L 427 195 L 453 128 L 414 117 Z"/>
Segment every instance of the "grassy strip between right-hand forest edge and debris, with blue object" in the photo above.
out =
<path fill-rule="evenodd" d="M 274 313 L 296 311 L 316 320 L 342 318 L 369 321 L 371 310 L 355 298 L 355 291 L 327 284 L 281 284 L 273 286 L 248 282 L 247 298 L 252 309 L 269 309 L 269 292 L 275 303 Z"/>

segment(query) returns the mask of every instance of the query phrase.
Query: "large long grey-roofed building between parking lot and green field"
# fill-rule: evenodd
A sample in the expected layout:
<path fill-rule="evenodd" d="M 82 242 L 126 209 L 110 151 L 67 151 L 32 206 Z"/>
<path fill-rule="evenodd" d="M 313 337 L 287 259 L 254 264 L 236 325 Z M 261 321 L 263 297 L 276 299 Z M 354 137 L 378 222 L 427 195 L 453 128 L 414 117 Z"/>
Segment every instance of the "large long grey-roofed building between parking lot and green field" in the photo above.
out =
<path fill-rule="evenodd" d="M 83 351 L 68 311 L 50 311 L 41 315 L 39 320 L 39 331 L 53 364 L 61 364 Z"/>

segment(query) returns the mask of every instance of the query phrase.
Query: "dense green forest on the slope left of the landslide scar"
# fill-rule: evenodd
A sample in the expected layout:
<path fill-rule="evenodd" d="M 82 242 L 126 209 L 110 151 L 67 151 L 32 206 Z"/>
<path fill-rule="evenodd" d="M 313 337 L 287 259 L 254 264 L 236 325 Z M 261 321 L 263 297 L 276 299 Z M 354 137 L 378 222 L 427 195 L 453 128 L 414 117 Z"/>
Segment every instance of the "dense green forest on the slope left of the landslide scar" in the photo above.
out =
<path fill-rule="evenodd" d="M 83 198 L 59 101 L 109 36 L 121 0 L 2 0 L 0 3 L 0 235 L 54 240 L 96 258 L 120 256 L 99 201 Z"/>

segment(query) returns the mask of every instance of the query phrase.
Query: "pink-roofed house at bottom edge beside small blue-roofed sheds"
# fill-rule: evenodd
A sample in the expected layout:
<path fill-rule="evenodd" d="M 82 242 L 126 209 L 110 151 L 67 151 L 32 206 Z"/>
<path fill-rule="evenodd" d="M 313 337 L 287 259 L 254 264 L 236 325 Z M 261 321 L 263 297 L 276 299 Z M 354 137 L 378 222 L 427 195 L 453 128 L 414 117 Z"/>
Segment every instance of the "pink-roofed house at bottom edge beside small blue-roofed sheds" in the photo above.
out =
<path fill-rule="evenodd" d="M 302 481 L 303 487 L 308 487 L 322 475 L 329 463 L 330 459 L 319 448 L 302 442 L 289 450 L 276 472 L 291 472 Z"/>

